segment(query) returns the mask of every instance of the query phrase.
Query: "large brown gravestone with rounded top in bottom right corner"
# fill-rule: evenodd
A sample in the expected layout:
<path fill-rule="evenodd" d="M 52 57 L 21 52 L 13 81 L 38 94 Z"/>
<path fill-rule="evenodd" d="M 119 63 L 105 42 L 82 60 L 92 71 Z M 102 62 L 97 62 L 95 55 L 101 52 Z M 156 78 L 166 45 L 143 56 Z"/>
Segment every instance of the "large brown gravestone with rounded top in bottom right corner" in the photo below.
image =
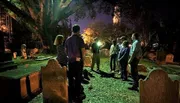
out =
<path fill-rule="evenodd" d="M 179 82 L 161 69 L 152 70 L 139 85 L 140 103 L 179 103 Z"/>

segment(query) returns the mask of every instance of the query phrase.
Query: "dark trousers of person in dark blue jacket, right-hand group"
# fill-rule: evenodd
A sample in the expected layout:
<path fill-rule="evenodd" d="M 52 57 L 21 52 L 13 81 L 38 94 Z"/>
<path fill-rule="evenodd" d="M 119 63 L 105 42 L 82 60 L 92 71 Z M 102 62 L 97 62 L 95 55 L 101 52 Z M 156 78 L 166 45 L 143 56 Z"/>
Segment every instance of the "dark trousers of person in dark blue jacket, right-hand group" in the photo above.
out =
<path fill-rule="evenodd" d="M 122 79 L 127 79 L 127 61 L 120 61 L 119 62 L 121 65 L 121 78 Z"/>

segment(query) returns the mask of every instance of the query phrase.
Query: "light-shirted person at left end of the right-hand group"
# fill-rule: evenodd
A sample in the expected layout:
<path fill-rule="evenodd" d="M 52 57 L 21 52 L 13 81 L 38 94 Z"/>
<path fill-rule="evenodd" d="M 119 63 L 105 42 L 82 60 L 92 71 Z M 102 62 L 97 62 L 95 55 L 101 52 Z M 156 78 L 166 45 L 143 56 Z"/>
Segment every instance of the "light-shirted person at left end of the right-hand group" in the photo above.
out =
<path fill-rule="evenodd" d="M 117 60 L 117 54 L 118 54 L 118 45 L 116 43 L 116 40 L 113 40 L 113 44 L 110 47 L 109 50 L 110 54 L 110 69 L 111 72 L 114 72 L 116 69 L 116 60 Z"/>

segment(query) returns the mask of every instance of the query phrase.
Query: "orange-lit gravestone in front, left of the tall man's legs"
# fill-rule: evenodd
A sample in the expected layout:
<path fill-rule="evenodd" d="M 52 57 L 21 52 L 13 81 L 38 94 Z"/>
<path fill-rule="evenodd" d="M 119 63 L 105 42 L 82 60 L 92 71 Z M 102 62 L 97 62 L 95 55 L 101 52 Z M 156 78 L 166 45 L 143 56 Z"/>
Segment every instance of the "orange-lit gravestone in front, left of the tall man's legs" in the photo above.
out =
<path fill-rule="evenodd" d="M 67 69 L 57 60 L 50 59 L 46 67 L 41 68 L 42 93 L 44 103 L 68 103 Z"/>

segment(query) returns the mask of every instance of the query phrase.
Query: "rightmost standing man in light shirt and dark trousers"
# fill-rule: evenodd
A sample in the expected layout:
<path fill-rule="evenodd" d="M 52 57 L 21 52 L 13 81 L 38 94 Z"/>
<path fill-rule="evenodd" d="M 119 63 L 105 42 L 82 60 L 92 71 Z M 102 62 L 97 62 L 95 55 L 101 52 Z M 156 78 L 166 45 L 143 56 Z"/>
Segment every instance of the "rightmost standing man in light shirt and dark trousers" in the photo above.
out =
<path fill-rule="evenodd" d="M 141 44 L 138 40 L 139 35 L 137 33 L 133 33 L 131 39 L 133 40 L 130 53 L 129 53 L 129 60 L 128 63 L 131 65 L 131 76 L 133 79 L 133 86 L 128 88 L 130 90 L 138 90 L 138 63 L 142 56 Z"/>

